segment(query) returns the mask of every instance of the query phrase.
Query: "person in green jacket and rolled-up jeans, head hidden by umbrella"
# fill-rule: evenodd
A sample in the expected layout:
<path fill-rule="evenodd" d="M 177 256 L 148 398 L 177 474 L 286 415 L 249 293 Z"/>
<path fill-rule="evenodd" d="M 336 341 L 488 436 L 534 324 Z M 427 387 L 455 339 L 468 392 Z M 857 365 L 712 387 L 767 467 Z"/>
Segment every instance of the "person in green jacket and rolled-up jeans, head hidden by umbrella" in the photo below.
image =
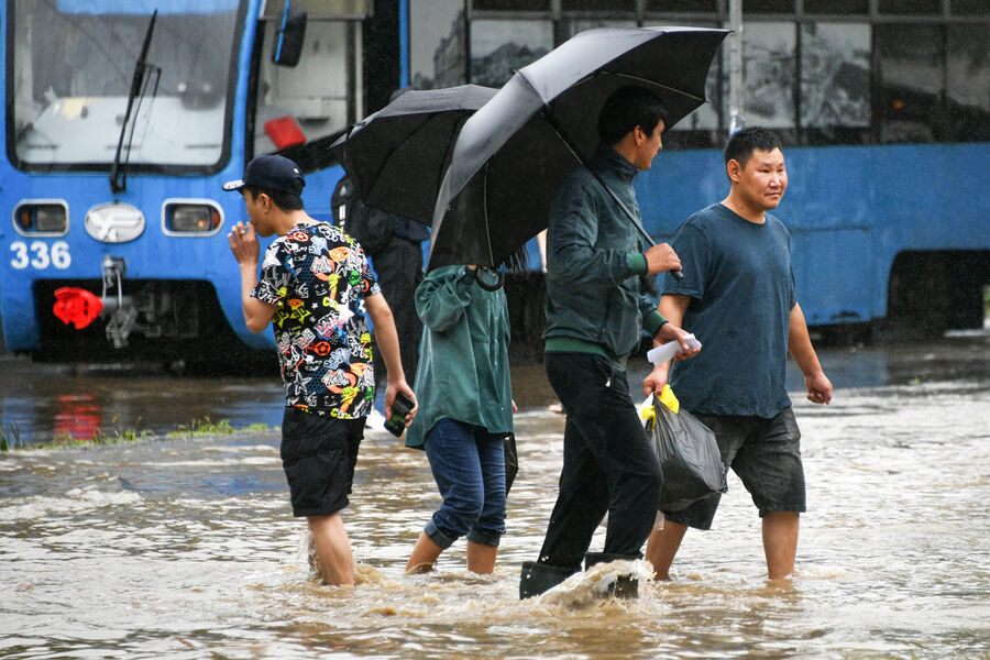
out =
<path fill-rule="evenodd" d="M 486 290 L 473 265 L 442 266 L 416 289 L 424 331 L 416 397 L 419 411 L 406 447 L 426 450 L 443 503 L 433 513 L 406 573 L 433 568 L 440 553 L 468 537 L 468 570 L 492 573 L 505 534 L 505 454 L 513 432 L 505 292 Z"/>

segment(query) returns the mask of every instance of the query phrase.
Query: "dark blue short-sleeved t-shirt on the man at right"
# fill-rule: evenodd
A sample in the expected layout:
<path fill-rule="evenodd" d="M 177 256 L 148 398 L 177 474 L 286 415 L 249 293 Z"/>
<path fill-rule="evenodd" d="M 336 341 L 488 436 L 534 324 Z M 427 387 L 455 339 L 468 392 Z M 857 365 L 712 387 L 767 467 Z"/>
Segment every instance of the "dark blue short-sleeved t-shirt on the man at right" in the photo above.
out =
<path fill-rule="evenodd" d="M 673 363 L 670 386 L 692 413 L 769 419 L 791 405 L 788 331 L 798 301 L 791 235 L 766 218 L 756 224 L 715 204 L 674 234 L 684 279 L 668 275 L 663 293 L 691 298 L 682 327 L 702 351 Z"/>

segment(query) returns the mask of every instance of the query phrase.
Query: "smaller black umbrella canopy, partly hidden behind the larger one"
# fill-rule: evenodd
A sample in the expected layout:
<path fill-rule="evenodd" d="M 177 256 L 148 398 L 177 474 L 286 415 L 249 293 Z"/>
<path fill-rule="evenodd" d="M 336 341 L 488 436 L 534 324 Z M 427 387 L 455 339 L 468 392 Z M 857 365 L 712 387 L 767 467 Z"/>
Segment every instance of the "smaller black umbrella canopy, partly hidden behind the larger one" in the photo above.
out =
<path fill-rule="evenodd" d="M 430 224 L 454 138 L 495 91 L 479 85 L 404 91 L 330 151 L 364 204 Z"/>

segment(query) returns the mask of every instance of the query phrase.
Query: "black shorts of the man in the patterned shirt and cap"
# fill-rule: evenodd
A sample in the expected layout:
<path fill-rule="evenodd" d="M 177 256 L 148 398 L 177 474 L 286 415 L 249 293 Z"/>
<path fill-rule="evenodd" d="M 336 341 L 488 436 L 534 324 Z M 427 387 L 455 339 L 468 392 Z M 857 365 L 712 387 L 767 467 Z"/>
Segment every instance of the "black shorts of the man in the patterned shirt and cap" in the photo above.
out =
<path fill-rule="evenodd" d="M 282 418 L 282 468 L 293 515 L 329 516 L 348 506 L 364 421 L 287 407 Z"/>

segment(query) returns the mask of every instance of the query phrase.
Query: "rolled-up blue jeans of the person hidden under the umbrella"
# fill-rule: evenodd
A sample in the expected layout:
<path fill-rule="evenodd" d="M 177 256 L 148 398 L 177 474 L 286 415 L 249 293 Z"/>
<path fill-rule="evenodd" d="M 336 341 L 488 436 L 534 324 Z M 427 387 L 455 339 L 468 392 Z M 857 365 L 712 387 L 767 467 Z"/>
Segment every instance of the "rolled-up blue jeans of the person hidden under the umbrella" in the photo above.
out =
<path fill-rule="evenodd" d="M 503 436 L 447 418 L 427 433 L 427 458 L 443 504 L 424 531 L 441 548 L 462 536 L 498 546 L 505 534 Z"/>

